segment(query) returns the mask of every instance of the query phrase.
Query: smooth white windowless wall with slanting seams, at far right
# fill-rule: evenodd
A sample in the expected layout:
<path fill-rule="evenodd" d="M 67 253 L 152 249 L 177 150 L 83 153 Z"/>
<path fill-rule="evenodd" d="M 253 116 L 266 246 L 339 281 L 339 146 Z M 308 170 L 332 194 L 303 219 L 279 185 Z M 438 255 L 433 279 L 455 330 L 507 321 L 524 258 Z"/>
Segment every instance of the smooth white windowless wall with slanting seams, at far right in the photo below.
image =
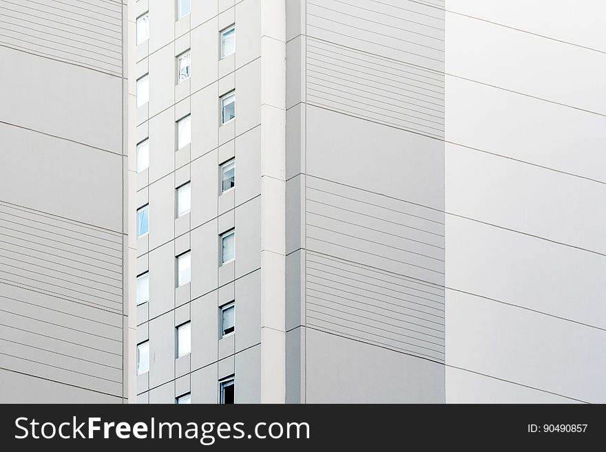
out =
<path fill-rule="evenodd" d="M 446 2 L 446 401 L 605 402 L 603 2 Z"/>

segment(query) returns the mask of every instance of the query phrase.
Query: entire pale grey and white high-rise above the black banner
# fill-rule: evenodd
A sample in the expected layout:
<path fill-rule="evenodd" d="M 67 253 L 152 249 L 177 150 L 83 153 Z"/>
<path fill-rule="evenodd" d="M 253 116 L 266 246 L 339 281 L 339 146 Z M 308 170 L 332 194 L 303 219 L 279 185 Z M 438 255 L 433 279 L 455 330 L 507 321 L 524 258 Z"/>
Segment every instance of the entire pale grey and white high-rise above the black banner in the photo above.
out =
<path fill-rule="evenodd" d="M 606 402 L 605 13 L 0 2 L 0 401 Z"/>

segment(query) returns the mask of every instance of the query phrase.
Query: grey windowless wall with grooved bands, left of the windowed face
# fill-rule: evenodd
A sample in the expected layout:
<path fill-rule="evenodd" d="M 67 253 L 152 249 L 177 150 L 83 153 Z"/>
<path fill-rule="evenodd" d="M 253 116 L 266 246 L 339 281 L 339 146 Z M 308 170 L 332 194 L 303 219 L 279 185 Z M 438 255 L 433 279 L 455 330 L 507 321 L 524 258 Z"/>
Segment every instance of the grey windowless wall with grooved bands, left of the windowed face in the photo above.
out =
<path fill-rule="evenodd" d="M 1 402 L 134 395 L 124 8 L 0 4 Z"/>

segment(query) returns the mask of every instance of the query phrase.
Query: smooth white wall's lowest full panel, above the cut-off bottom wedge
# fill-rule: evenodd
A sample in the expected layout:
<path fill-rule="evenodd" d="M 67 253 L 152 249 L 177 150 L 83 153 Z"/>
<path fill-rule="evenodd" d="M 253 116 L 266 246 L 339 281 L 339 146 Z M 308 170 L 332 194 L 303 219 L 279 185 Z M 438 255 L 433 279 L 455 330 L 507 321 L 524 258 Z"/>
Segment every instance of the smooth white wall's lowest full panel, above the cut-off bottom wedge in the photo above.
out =
<path fill-rule="evenodd" d="M 605 402 L 604 330 L 452 290 L 447 299 L 448 365 Z"/>

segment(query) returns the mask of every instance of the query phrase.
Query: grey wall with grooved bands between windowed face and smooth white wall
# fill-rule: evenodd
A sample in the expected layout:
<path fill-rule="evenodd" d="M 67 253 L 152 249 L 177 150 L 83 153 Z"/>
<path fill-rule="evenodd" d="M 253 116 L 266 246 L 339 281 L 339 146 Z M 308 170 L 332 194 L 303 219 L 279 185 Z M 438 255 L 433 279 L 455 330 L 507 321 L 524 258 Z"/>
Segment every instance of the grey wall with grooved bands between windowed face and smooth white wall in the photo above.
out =
<path fill-rule="evenodd" d="M 443 402 L 443 7 L 286 6 L 286 398 Z"/>

